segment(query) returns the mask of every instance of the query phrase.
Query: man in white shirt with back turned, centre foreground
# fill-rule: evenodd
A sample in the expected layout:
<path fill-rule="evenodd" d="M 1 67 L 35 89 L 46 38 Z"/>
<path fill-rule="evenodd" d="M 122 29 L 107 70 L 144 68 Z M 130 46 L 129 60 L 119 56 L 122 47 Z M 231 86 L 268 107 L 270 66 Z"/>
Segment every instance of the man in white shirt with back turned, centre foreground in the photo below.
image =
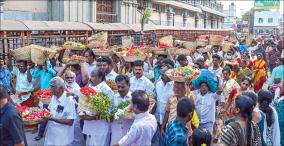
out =
<path fill-rule="evenodd" d="M 151 145 L 152 137 L 157 130 L 156 118 L 148 112 L 150 100 L 145 91 L 132 93 L 132 108 L 136 114 L 128 133 L 114 146 Z"/>

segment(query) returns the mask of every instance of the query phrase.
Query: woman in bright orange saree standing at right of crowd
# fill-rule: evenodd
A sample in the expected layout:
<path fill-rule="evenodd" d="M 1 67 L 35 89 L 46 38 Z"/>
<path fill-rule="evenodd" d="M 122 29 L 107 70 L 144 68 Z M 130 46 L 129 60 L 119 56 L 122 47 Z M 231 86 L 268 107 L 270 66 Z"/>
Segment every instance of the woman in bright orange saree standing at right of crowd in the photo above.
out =
<path fill-rule="evenodd" d="M 254 62 L 253 69 L 253 88 L 254 92 L 258 92 L 262 89 L 263 84 L 266 82 L 266 62 L 263 59 L 262 54 L 257 54 L 257 60 Z"/>

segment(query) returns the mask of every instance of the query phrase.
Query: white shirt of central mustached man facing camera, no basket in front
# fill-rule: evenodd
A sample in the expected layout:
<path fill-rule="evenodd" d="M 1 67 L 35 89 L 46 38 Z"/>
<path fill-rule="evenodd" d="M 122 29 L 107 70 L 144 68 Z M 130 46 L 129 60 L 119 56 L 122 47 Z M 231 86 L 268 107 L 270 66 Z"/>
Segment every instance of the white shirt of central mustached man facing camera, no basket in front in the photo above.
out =
<path fill-rule="evenodd" d="M 154 84 L 144 75 L 137 79 L 135 76 L 130 78 L 130 91 L 144 90 L 147 93 L 154 93 Z"/>

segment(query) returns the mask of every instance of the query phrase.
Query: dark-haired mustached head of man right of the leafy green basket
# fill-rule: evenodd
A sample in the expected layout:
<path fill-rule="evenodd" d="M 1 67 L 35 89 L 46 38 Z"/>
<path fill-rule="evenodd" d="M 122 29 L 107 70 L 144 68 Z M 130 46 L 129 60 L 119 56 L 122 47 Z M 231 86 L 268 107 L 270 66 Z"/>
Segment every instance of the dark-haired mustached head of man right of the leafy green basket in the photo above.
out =
<path fill-rule="evenodd" d="M 130 87 L 129 77 L 126 75 L 118 75 L 115 78 L 115 83 L 120 96 L 125 96 L 128 93 Z"/>

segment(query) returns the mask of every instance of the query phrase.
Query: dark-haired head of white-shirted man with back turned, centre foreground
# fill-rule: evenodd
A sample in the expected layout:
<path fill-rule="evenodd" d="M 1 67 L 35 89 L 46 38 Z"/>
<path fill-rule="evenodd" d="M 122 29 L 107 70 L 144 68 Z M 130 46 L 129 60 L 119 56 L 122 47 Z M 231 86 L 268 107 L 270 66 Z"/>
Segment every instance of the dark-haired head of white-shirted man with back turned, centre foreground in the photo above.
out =
<path fill-rule="evenodd" d="M 132 108 L 135 114 L 148 111 L 150 100 L 143 90 L 136 90 L 132 94 Z"/>

